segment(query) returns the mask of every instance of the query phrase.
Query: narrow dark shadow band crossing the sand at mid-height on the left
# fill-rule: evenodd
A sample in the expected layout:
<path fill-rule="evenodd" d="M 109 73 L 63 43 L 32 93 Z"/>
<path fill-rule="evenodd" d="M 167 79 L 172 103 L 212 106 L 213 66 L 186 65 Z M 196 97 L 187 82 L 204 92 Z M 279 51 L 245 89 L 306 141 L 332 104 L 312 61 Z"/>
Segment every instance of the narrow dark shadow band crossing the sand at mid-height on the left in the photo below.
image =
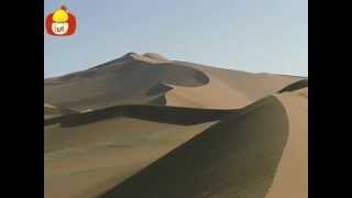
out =
<path fill-rule="evenodd" d="M 163 100 L 162 98 L 160 100 Z M 75 127 L 105 119 L 128 117 L 160 123 L 180 125 L 197 124 L 220 120 L 238 110 L 195 109 L 168 106 L 117 106 L 85 113 L 72 113 L 44 120 L 45 125 L 61 123 L 62 127 Z"/>

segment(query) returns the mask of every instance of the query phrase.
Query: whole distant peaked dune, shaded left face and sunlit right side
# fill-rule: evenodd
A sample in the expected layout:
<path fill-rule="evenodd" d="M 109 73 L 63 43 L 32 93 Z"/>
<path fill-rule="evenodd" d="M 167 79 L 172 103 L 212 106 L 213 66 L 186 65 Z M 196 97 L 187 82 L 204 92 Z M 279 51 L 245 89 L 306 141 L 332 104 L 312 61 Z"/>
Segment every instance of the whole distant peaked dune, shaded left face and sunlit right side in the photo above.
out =
<path fill-rule="evenodd" d="M 185 89 L 169 95 L 170 105 L 185 103 L 187 107 L 215 109 L 218 106 L 221 106 L 221 109 L 228 106 L 228 109 L 233 109 L 250 105 L 299 80 L 279 75 L 210 68 L 167 61 L 158 56 L 151 53 L 146 55 L 129 53 L 87 70 L 46 79 L 44 100 L 53 106 L 74 110 L 100 109 L 117 105 L 145 105 L 152 101 L 155 103 L 156 96 L 164 96 L 167 91 L 154 92 L 152 96 L 148 92 L 155 86 L 165 84 Z M 209 98 L 213 98 L 211 95 L 219 97 L 217 97 L 218 102 L 209 106 Z M 237 97 L 238 101 L 228 97 Z"/>

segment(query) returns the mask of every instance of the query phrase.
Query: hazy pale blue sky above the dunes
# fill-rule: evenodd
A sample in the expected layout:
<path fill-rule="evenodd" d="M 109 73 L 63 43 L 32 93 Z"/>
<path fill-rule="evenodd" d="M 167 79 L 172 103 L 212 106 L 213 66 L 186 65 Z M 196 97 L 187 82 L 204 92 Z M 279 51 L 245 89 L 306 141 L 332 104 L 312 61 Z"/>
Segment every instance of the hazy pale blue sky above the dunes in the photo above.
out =
<path fill-rule="evenodd" d="M 255 73 L 308 76 L 307 0 L 45 0 L 64 4 L 76 34 L 45 34 L 44 77 L 128 52 Z"/>

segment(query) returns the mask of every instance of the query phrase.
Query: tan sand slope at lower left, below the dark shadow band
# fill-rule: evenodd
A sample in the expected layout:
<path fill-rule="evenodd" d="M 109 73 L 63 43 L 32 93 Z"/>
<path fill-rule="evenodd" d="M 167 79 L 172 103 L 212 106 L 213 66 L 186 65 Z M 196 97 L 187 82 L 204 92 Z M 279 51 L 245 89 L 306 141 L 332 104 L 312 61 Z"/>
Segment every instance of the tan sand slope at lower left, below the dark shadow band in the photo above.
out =
<path fill-rule="evenodd" d="M 128 118 L 66 129 L 53 125 L 45 135 L 45 197 L 96 197 L 209 125 Z"/>

